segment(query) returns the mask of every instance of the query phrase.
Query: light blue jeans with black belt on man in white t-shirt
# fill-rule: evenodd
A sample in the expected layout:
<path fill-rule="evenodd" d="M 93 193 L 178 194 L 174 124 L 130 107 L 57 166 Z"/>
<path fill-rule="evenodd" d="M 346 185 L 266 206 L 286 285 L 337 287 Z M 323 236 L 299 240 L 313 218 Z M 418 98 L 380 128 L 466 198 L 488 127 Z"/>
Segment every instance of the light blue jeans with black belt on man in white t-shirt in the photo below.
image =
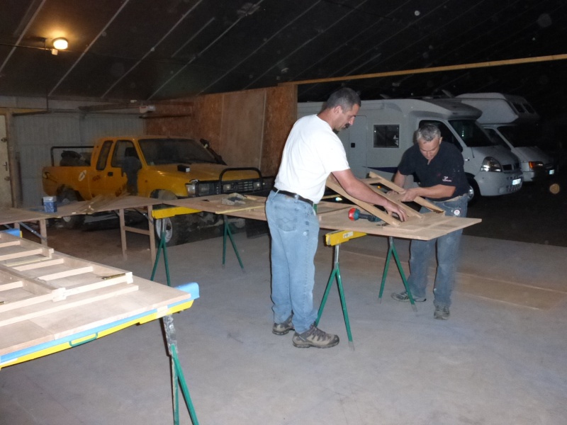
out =
<path fill-rule="evenodd" d="M 271 192 L 266 200 L 271 234 L 271 300 L 274 322 L 293 312 L 293 327 L 301 334 L 317 319 L 313 309 L 315 252 L 319 221 L 308 203 Z"/>

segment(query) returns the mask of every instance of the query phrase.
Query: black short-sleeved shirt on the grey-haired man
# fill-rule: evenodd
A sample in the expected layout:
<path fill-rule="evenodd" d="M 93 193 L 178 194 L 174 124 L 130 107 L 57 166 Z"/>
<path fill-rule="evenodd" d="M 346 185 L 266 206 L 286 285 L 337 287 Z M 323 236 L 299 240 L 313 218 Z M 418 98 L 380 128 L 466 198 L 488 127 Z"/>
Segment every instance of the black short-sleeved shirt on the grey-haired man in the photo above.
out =
<path fill-rule="evenodd" d="M 434 200 L 447 200 L 468 192 L 468 181 L 464 171 L 464 159 L 459 149 L 450 143 L 441 142 L 439 152 L 433 157 L 430 164 L 423 156 L 419 145 L 413 145 L 404 152 L 398 171 L 404 176 L 415 174 L 420 186 L 430 188 L 442 184 L 454 186 L 455 191 L 449 198 L 435 198 Z"/>

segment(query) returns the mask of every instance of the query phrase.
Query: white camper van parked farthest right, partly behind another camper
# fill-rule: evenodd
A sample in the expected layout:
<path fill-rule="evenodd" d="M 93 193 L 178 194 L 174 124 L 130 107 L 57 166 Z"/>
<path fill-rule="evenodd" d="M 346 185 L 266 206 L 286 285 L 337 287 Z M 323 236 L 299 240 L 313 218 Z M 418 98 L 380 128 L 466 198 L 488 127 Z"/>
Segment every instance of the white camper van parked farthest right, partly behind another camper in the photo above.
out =
<path fill-rule="evenodd" d="M 539 115 L 522 96 L 468 93 L 456 96 L 482 111 L 478 123 L 488 135 L 520 159 L 524 181 L 541 181 L 556 173 L 553 158 L 537 147 Z"/>

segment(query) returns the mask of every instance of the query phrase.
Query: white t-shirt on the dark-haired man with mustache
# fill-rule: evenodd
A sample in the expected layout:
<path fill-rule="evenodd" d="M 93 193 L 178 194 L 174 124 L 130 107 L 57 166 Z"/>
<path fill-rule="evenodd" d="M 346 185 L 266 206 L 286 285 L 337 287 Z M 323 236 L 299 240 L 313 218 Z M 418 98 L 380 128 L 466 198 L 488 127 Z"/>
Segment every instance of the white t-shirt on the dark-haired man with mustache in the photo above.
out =
<path fill-rule="evenodd" d="M 274 186 L 318 203 L 329 174 L 349 168 L 342 142 L 330 125 L 308 115 L 297 120 L 289 133 Z"/>

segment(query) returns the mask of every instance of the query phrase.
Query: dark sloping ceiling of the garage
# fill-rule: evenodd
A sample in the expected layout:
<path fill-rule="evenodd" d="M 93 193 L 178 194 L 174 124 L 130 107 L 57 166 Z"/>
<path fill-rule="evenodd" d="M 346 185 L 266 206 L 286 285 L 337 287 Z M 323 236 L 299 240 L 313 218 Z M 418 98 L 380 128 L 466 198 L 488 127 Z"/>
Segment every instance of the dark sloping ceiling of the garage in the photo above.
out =
<path fill-rule="evenodd" d="M 52 55 L 52 40 L 69 49 Z M 567 53 L 565 0 L 1 0 L 0 96 L 159 101 Z M 46 49 L 47 48 L 47 49 Z M 549 59 L 549 58 L 548 58 Z M 567 60 L 301 84 L 363 99 L 475 91 L 567 112 Z"/>

